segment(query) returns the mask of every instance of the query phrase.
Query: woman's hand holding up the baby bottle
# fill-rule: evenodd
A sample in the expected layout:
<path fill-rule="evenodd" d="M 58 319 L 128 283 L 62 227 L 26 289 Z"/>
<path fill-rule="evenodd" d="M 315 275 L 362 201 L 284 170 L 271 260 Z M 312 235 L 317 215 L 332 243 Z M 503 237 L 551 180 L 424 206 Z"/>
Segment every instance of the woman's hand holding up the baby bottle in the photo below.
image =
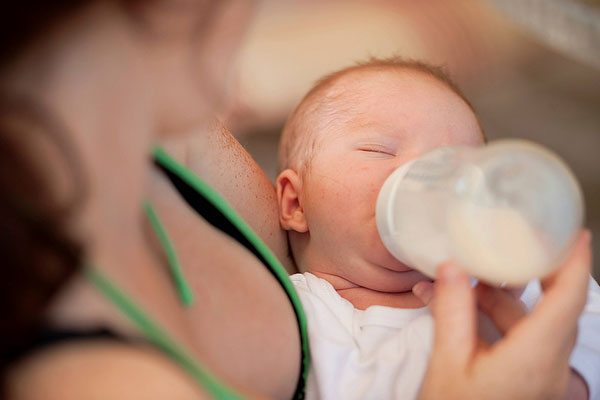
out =
<path fill-rule="evenodd" d="M 544 295 L 527 316 L 510 294 L 475 290 L 458 267 L 440 266 L 431 302 L 434 348 L 420 399 L 564 399 L 567 390 L 585 398 L 569 357 L 587 298 L 589 243 L 589 232 L 582 233 L 567 261 L 542 281 Z M 431 289 L 419 284 L 413 291 L 428 303 Z M 494 344 L 477 336 L 477 305 L 503 335 Z"/>

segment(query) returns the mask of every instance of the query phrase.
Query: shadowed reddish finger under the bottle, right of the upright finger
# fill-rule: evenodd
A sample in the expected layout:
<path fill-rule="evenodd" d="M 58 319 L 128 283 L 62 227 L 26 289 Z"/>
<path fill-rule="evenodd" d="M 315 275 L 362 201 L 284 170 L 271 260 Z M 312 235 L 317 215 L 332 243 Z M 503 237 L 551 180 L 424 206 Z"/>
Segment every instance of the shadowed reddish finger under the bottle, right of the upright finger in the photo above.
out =
<path fill-rule="evenodd" d="M 479 308 L 502 335 L 527 314 L 525 305 L 506 290 L 480 283 L 475 288 L 475 293 Z"/>

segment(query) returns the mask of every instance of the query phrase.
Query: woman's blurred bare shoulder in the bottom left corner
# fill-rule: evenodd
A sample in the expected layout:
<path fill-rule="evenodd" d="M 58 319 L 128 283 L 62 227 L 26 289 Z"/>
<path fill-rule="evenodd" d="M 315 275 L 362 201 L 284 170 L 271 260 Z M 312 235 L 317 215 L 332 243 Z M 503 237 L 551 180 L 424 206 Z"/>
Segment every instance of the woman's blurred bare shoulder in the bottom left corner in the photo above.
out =
<path fill-rule="evenodd" d="M 32 354 L 12 368 L 7 389 L 18 400 L 208 398 L 158 351 L 108 340 L 63 343 Z"/>

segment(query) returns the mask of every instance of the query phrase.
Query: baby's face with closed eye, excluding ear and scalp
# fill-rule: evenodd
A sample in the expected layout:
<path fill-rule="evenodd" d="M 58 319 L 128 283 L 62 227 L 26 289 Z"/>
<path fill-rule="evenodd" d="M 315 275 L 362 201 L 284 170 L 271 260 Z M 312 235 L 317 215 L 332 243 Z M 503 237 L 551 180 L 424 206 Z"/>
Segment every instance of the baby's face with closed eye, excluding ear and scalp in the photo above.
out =
<path fill-rule="evenodd" d="M 371 289 L 410 290 L 424 277 L 384 248 L 379 190 L 407 161 L 440 146 L 481 145 L 483 134 L 469 106 L 424 73 L 362 71 L 340 84 L 354 93 L 344 107 L 351 111 L 317 134 L 302 189 L 308 267 Z"/>

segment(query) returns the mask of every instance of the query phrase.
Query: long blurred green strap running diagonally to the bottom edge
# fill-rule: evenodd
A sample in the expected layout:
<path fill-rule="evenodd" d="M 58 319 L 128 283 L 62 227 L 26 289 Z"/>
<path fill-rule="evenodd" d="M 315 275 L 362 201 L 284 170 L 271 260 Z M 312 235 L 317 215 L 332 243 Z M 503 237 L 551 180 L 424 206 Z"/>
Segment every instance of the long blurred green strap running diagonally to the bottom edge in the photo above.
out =
<path fill-rule="evenodd" d="M 188 351 L 177 344 L 167 332 L 154 323 L 137 304 L 98 269 L 93 267 L 84 268 L 84 274 L 88 281 L 134 323 L 146 339 L 179 364 L 212 397 L 226 400 L 243 399 L 241 395 L 221 384 L 215 376 L 202 368 L 194 358 L 189 356 Z"/>

